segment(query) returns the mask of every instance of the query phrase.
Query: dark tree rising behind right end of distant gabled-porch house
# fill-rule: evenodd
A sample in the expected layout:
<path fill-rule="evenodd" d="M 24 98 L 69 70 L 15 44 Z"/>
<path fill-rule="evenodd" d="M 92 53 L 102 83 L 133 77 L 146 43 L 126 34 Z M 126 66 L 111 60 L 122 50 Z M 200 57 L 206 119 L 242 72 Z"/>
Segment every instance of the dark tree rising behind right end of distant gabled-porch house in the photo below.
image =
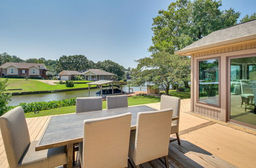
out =
<path fill-rule="evenodd" d="M 96 68 L 116 74 L 119 80 L 124 77 L 124 67 L 111 60 L 97 62 Z"/>

